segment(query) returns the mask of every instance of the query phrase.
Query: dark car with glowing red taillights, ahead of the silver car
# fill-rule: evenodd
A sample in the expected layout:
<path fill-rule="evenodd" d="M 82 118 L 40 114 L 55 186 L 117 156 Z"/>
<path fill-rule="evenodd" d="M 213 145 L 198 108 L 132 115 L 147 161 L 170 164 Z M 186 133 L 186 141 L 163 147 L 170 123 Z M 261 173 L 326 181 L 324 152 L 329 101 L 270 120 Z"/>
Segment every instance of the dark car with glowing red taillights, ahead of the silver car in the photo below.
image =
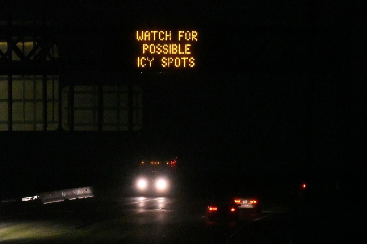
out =
<path fill-rule="evenodd" d="M 214 200 L 208 206 L 208 220 L 239 219 L 239 208 L 233 200 Z"/>

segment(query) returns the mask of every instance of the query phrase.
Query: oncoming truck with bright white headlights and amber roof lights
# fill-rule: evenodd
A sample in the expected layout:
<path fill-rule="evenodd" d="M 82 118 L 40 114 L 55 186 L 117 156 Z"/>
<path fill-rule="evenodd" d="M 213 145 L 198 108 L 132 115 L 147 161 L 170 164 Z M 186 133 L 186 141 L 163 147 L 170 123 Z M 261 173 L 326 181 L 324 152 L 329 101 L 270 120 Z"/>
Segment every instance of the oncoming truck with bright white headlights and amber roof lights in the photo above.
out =
<path fill-rule="evenodd" d="M 167 195 L 173 189 L 177 158 L 170 160 L 142 160 L 135 190 L 139 195 Z"/>

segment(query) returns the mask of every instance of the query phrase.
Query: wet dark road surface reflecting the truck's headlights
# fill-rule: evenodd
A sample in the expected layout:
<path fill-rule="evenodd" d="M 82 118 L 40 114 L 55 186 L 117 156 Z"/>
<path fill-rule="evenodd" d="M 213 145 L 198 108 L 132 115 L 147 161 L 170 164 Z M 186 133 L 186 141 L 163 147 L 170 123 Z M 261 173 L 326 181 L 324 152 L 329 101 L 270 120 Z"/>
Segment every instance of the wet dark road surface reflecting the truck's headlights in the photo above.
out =
<path fill-rule="evenodd" d="M 0 219 L 0 242 L 225 243 L 236 230 L 273 213 L 242 210 L 240 221 L 210 222 L 205 200 L 170 197 L 77 199 L 31 207 Z"/>

